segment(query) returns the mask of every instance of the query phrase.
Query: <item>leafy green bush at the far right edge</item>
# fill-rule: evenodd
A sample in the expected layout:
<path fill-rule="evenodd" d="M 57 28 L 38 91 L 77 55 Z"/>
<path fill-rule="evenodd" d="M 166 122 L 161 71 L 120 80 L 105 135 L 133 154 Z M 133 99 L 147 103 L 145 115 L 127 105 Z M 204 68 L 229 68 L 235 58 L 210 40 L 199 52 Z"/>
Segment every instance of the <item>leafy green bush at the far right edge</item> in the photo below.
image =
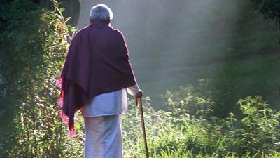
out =
<path fill-rule="evenodd" d="M 279 151 L 280 112 L 269 108 L 260 96 L 254 98 L 249 96 L 239 100 L 238 103 L 244 114 L 244 118 L 241 119 L 242 126 L 238 132 L 243 137 L 239 144 L 244 151 L 252 154 Z"/>

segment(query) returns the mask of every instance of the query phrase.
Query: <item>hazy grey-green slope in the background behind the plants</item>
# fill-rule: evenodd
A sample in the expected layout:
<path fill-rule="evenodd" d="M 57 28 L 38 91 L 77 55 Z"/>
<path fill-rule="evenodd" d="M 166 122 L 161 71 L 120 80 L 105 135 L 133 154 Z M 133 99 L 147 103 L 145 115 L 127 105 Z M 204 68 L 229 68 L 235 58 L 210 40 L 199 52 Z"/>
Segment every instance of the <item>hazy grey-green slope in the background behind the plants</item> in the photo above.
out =
<path fill-rule="evenodd" d="M 84 0 L 79 28 L 99 3 L 112 8 L 112 25 L 125 34 L 139 85 L 155 107 L 166 108 L 160 94 L 199 79 L 209 81 L 205 91 L 222 91 L 214 96 L 220 114 L 249 95 L 279 105 L 279 32 L 251 1 Z"/>

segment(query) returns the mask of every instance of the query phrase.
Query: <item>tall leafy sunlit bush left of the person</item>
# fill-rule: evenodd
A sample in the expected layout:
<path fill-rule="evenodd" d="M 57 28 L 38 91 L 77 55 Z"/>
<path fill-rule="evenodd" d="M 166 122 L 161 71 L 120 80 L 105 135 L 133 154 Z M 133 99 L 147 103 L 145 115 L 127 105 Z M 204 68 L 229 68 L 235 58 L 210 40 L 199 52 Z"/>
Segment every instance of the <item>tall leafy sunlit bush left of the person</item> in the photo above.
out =
<path fill-rule="evenodd" d="M 83 124 L 77 124 L 78 136 L 70 140 L 56 103 L 55 82 L 69 46 L 70 27 L 56 1 L 54 6 L 54 11 L 45 11 L 25 0 L 0 9 L 1 91 L 5 92 L 1 93 L 0 117 L 14 114 L 8 117 L 13 130 L 1 129 L 0 157 L 83 155 Z"/>

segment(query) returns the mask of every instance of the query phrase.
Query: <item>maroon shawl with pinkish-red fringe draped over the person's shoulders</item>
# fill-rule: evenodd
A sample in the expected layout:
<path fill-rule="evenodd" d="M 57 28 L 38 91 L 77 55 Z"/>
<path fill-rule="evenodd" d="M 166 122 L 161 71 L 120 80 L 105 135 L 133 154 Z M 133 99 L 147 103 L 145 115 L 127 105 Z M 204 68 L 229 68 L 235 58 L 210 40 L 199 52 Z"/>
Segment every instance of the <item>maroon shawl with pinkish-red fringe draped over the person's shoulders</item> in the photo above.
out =
<path fill-rule="evenodd" d="M 102 93 L 134 86 L 123 34 L 106 23 L 92 23 L 72 39 L 57 86 L 61 88 L 61 118 L 76 134 L 75 112 L 88 100 Z M 68 117 L 68 119 L 67 119 Z"/>

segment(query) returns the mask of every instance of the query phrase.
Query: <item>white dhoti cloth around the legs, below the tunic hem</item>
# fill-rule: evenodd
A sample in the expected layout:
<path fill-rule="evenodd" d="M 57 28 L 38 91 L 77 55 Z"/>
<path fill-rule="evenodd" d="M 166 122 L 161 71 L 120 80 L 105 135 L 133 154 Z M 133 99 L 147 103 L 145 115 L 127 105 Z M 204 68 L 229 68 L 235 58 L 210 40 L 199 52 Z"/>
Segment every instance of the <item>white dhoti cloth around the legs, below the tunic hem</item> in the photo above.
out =
<path fill-rule="evenodd" d="M 122 158 L 122 114 L 84 117 L 85 158 Z"/>

